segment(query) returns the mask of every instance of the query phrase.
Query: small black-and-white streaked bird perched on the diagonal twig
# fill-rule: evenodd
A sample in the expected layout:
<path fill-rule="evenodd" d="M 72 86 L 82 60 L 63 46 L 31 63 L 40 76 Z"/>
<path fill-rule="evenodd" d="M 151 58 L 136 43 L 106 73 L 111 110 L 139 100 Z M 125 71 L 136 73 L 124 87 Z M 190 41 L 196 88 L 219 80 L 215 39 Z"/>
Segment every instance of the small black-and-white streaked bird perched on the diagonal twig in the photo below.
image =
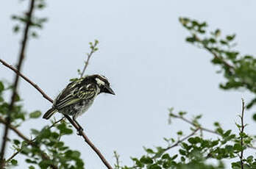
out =
<path fill-rule="evenodd" d="M 94 74 L 77 79 L 69 83 L 57 96 L 51 109 L 43 115 L 43 118 L 49 119 L 55 112 L 71 115 L 73 121 L 82 130 L 82 126 L 79 125 L 76 119 L 88 110 L 99 93 L 115 95 L 110 88 L 110 82 L 107 81 L 105 76 Z"/>

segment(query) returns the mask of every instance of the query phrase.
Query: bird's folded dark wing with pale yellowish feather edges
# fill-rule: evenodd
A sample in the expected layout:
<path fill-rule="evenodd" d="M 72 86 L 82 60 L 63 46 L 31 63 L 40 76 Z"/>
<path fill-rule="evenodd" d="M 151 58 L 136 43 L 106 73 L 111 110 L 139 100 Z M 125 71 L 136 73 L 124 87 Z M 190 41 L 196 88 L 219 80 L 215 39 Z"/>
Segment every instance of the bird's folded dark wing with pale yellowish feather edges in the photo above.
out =
<path fill-rule="evenodd" d="M 75 84 L 71 82 L 67 87 L 57 96 L 54 101 L 54 107 L 63 109 L 71 104 L 76 104 L 78 101 L 86 100 L 96 96 L 97 87 L 95 84 Z"/>

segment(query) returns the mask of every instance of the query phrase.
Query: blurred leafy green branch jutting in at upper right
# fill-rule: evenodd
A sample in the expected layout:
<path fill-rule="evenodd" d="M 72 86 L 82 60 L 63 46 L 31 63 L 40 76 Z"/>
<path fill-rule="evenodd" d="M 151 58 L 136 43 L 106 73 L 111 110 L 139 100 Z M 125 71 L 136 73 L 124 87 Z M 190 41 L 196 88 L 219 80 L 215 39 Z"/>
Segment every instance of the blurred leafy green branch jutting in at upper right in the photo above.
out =
<path fill-rule="evenodd" d="M 213 55 L 213 65 L 221 67 L 218 73 L 223 73 L 226 79 L 226 82 L 220 84 L 221 89 L 244 88 L 256 95 L 256 59 L 252 55 L 242 55 L 233 49 L 236 46 L 235 34 L 221 37 L 220 29 L 207 33 L 205 22 L 199 23 L 189 18 L 179 18 L 179 21 L 191 34 L 186 41 L 209 51 Z M 254 104 L 256 96 L 246 108 L 249 109 Z"/>

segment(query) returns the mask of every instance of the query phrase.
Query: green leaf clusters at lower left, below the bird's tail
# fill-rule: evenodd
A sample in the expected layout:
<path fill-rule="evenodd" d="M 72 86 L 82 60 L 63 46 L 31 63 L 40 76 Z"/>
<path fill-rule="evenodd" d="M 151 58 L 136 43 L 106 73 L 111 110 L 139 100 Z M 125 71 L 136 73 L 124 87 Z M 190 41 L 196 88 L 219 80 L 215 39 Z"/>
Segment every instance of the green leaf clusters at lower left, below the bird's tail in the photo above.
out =
<path fill-rule="evenodd" d="M 7 115 L 7 107 L 9 104 L 4 101 L 4 93 L 11 90 L 11 87 L 4 86 L 3 82 L 0 82 L 0 118 L 1 123 L 4 121 Z M 17 96 L 19 98 L 19 96 Z M 40 118 L 41 112 L 39 110 L 34 112 L 26 112 L 22 109 L 22 101 L 19 99 L 14 107 L 12 115 L 12 126 L 18 130 L 18 127 L 23 123 L 31 123 Z M 45 126 L 43 129 L 33 129 L 30 131 L 34 139 L 27 137 L 10 138 L 10 143 L 15 153 L 20 152 L 26 157 L 25 162 L 30 165 L 29 168 L 48 168 L 49 165 L 54 165 L 57 168 L 84 168 L 84 162 L 80 158 L 79 151 L 71 150 L 63 141 L 61 137 L 72 134 L 71 126 L 61 121 L 51 121 L 54 125 Z M 6 165 L 18 165 L 18 161 L 15 158 L 6 159 Z"/>

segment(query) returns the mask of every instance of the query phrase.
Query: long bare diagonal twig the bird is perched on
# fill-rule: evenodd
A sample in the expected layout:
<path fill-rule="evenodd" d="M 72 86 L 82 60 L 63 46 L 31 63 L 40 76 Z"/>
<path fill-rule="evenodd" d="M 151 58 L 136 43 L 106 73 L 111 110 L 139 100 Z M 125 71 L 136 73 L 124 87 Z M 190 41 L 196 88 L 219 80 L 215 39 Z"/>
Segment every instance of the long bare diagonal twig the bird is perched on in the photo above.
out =
<path fill-rule="evenodd" d="M 11 70 L 13 70 L 15 73 L 17 73 L 16 69 L 13 68 L 11 65 L 7 64 L 7 62 L 4 62 L 3 60 L 0 60 L 0 62 L 3 63 L 3 65 L 5 65 L 7 68 L 10 68 Z M 35 87 L 36 90 L 38 90 L 44 98 L 46 98 L 48 101 L 50 101 L 51 103 L 53 103 L 53 100 L 46 95 L 46 93 L 43 92 L 42 89 L 40 89 L 40 87 L 38 87 L 38 85 L 36 85 L 34 82 L 32 82 L 30 79 L 28 79 L 26 76 L 24 76 L 21 73 L 17 73 L 18 75 L 22 75 L 21 77 L 26 81 L 29 82 L 29 84 L 31 84 L 33 87 Z M 93 151 L 98 155 L 98 157 L 102 160 L 102 162 L 104 163 L 104 165 L 108 168 L 108 169 L 113 169 L 111 167 L 111 165 L 107 162 L 107 160 L 104 158 L 104 156 L 102 155 L 102 153 L 99 151 L 98 148 L 96 148 L 95 145 L 93 145 L 93 143 L 89 140 L 89 138 L 86 136 L 85 132 L 82 132 L 81 130 L 79 130 L 79 126 L 77 126 L 77 123 L 74 123 L 74 121 L 72 121 L 72 119 L 68 116 L 68 115 L 64 115 L 65 118 L 68 119 L 68 121 L 72 124 L 72 126 L 74 126 L 75 129 L 77 129 L 77 132 L 79 132 L 79 135 L 81 135 L 85 142 L 88 143 L 88 145 L 90 145 L 90 148 L 93 148 Z"/>

